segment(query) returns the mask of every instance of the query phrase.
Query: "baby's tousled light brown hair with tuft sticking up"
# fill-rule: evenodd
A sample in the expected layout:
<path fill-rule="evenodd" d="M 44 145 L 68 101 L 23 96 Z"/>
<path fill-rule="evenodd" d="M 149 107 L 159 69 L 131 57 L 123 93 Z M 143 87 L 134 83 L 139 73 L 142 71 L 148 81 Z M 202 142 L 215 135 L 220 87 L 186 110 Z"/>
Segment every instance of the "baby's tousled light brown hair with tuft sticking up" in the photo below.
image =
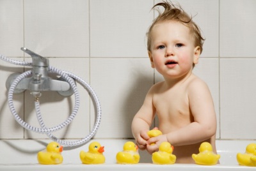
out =
<path fill-rule="evenodd" d="M 159 7 L 163 6 L 164 11 L 161 12 Z M 166 21 L 177 21 L 181 24 L 184 24 L 184 26 L 188 27 L 191 33 L 191 36 L 193 36 L 195 47 L 200 47 L 200 53 L 202 53 L 203 50 L 203 44 L 204 44 L 204 38 L 202 38 L 200 33 L 200 28 L 196 26 L 195 22 L 193 22 L 192 17 L 190 17 L 180 6 L 176 6 L 172 4 L 171 2 L 164 1 L 163 3 L 158 3 L 153 6 L 152 9 L 156 9 L 159 13 L 158 17 L 153 21 L 152 25 L 149 27 L 147 32 L 147 49 L 149 52 L 151 52 L 151 31 L 152 28 L 161 22 Z"/>

